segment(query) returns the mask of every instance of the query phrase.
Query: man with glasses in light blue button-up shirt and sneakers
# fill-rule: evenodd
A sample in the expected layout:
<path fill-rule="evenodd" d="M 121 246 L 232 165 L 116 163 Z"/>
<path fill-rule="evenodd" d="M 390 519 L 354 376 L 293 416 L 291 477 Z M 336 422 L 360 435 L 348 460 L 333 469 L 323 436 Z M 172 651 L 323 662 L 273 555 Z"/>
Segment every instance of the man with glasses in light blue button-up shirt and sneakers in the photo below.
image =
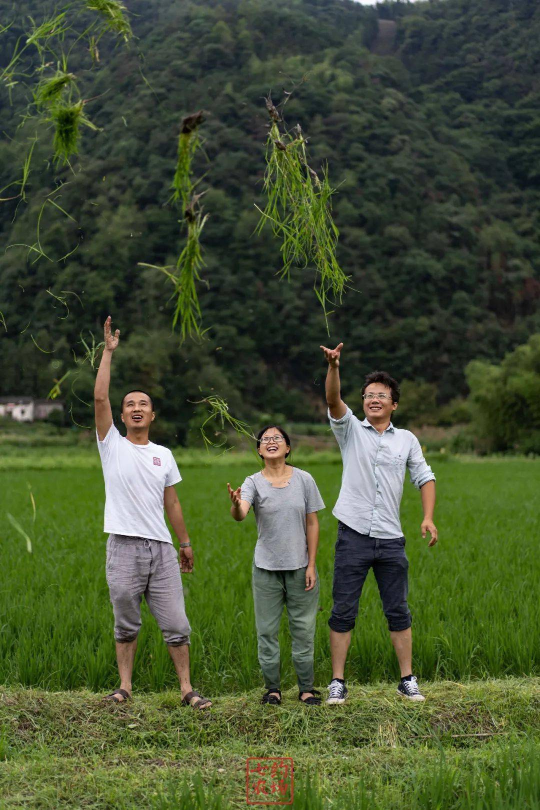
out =
<path fill-rule="evenodd" d="M 437 542 L 433 523 L 435 475 L 423 458 L 418 439 L 409 430 L 394 428 L 390 417 L 398 407 L 398 382 L 384 371 L 365 379 L 362 389 L 365 419 L 354 416 L 341 399 L 339 358 L 335 349 L 321 346 L 328 360 L 326 402 L 330 427 L 342 453 L 343 474 L 334 506 L 338 542 L 334 561 L 334 607 L 330 616 L 330 650 L 333 676 L 330 704 L 347 697 L 344 672 L 351 630 L 358 614 L 359 597 L 370 568 L 373 569 L 388 621 L 390 638 L 398 655 L 401 680 L 398 693 L 423 701 L 412 674 L 411 616 L 407 605 L 409 562 L 399 519 L 406 469 L 420 491 L 423 505 L 422 536 Z"/>

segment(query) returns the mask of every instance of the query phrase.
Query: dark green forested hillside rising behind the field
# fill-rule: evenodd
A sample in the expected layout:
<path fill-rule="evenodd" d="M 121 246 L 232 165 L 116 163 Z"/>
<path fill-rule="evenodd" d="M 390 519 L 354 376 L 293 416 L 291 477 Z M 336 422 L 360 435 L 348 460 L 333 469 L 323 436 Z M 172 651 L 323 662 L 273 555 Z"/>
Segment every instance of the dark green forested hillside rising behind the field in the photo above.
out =
<path fill-rule="evenodd" d="M 2 23 L 14 22 L 0 35 L 4 63 L 23 15 L 36 16 L 32 5 L 5 12 Z M 102 128 L 84 130 L 72 171 L 53 168 L 52 132 L 36 118 L 17 129 L 24 80 L 11 94 L 0 89 L 2 186 L 39 138 L 27 201 L 0 203 L 2 395 L 46 395 L 83 356 L 81 333 L 100 339 L 108 313 L 121 329 L 117 394 L 151 390 L 179 441 L 199 387 L 240 416 L 321 418 L 320 343 L 345 344 L 347 393 L 377 367 L 435 382 L 444 403 L 466 393 L 470 360 L 497 362 L 540 330 L 538 2 L 127 5 L 134 44 L 104 40 L 95 66 L 83 49 L 70 57 L 91 99 L 87 114 Z M 377 16 L 398 23 L 393 53 L 375 53 Z M 253 233 L 264 96 L 277 102 L 283 88 L 293 91 L 287 125 L 300 122 L 312 164 L 327 160 L 338 186 L 338 258 L 351 287 L 330 337 L 313 275 L 291 271 L 290 283 L 280 281 L 279 242 L 270 229 Z M 167 279 L 137 262 L 173 263 L 181 249 L 168 199 L 181 118 L 196 109 L 206 113 L 195 168 L 210 214 L 199 290 L 208 331 L 202 343 L 180 345 Z M 57 203 L 70 218 L 52 206 L 40 218 L 45 195 L 62 182 Z M 49 258 L 8 247 L 36 238 Z M 62 388 L 83 424 L 92 379 L 86 363 L 74 388 Z"/>

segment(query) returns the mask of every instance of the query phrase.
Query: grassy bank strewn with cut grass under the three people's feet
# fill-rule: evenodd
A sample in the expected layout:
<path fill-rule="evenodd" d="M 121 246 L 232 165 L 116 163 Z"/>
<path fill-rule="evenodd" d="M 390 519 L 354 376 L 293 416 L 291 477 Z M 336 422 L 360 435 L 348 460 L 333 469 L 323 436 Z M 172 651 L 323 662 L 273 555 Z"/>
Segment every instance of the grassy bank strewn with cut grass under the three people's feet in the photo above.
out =
<path fill-rule="evenodd" d="M 292 757 L 296 808 L 538 808 L 540 679 L 353 685 L 345 706 L 261 706 L 260 690 L 209 713 L 177 690 L 104 705 L 100 694 L 3 689 L 5 808 L 237 808 L 246 757 Z"/>

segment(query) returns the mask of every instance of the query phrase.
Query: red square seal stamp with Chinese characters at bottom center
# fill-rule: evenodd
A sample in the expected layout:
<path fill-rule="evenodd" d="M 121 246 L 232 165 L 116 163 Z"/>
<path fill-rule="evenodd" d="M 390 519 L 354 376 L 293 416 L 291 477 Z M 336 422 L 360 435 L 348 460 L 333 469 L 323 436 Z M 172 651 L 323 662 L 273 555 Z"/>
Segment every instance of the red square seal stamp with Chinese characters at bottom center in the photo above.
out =
<path fill-rule="evenodd" d="M 248 757 L 245 763 L 247 804 L 292 804 L 293 798 L 291 757 Z"/>

